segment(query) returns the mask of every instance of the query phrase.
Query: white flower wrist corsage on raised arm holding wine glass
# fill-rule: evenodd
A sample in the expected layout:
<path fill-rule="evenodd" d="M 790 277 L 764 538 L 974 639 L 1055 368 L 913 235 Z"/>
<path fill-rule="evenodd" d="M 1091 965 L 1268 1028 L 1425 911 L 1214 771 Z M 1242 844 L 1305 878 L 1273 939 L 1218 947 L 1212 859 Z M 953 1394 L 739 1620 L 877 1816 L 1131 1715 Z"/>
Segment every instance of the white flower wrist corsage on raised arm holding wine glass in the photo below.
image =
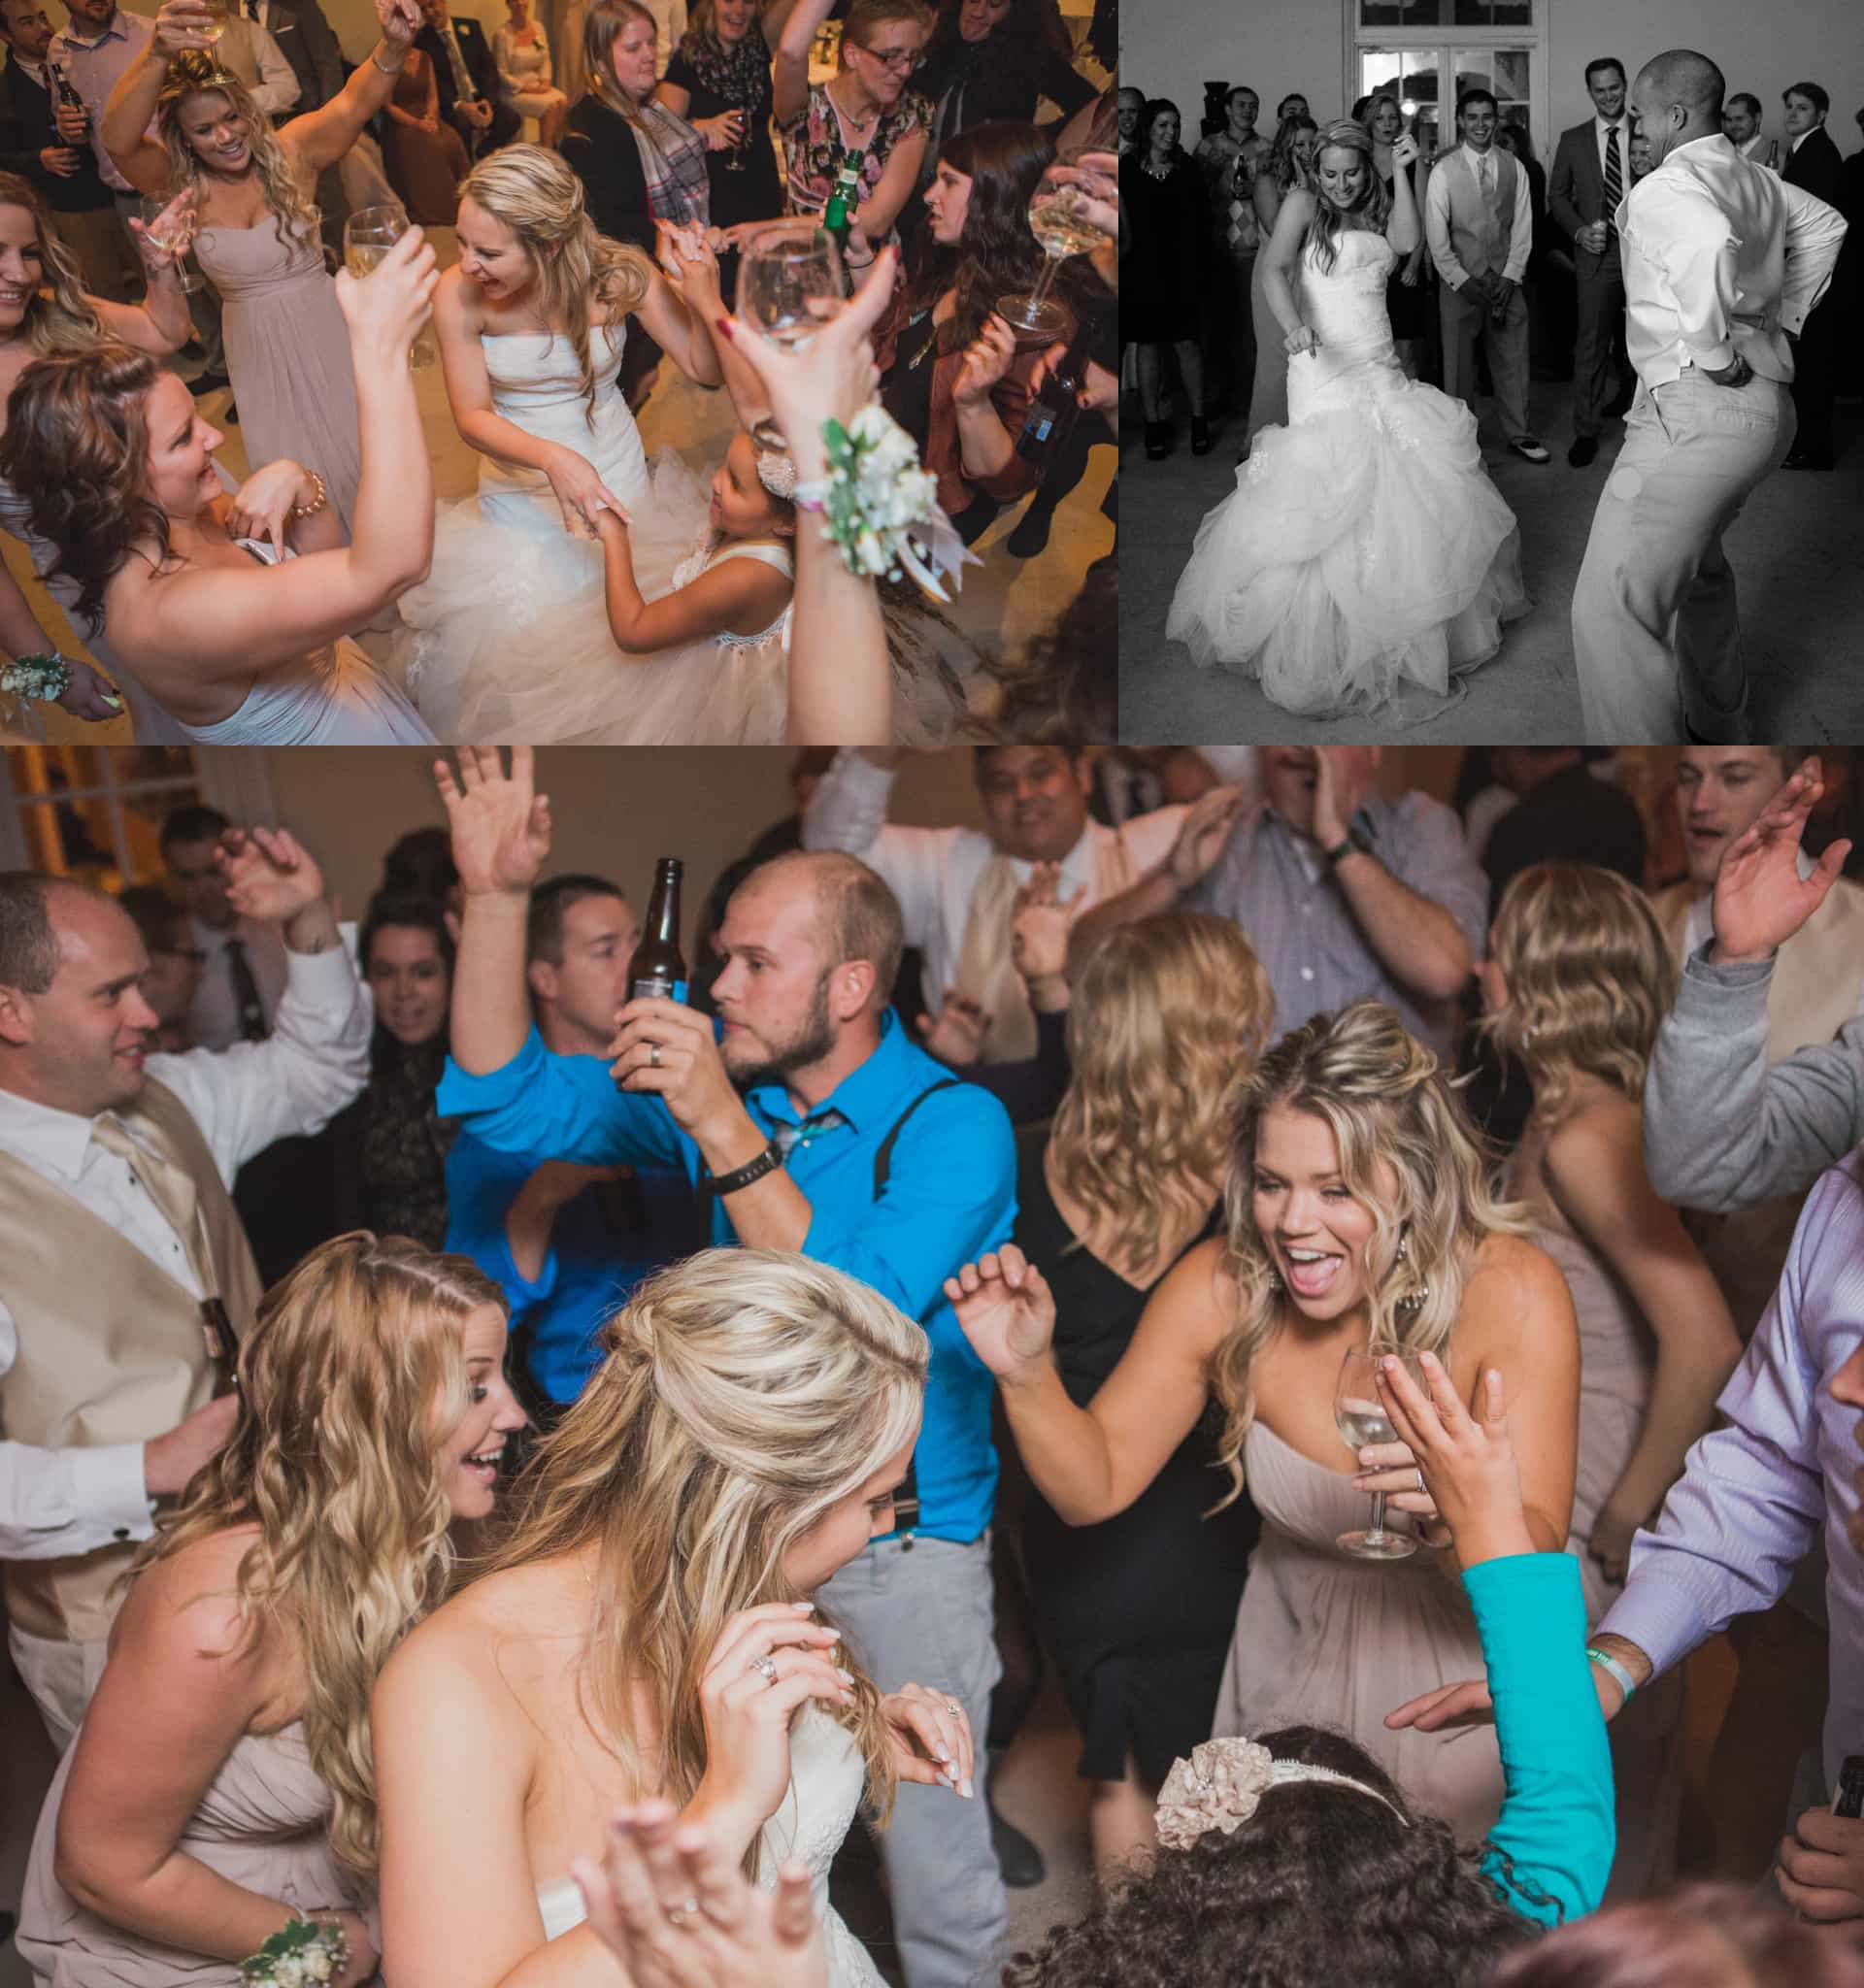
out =
<path fill-rule="evenodd" d="M 841 547 L 849 573 L 896 580 L 904 571 L 934 600 L 950 600 L 940 579 L 982 561 L 946 517 L 938 479 L 920 467 L 912 435 L 874 404 L 849 427 L 823 421 L 823 441 L 829 475 L 799 483 L 795 501 L 823 513 L 823 537 Z"/>

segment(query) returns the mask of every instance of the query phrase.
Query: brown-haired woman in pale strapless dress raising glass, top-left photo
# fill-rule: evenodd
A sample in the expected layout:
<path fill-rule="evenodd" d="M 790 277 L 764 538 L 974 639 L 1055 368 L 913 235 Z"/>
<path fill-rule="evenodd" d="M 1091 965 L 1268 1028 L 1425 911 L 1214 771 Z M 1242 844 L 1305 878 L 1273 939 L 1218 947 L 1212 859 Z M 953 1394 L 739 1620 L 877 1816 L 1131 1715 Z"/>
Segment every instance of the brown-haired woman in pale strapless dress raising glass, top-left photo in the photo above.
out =
<path fill-rule="evenodd" d="M 189 390 L 103 344 L 20 376 L 0 473 L 181 738 L 211 746 L 431 746 L 413 706 L 350 638 L 427 565 L 433 479 L 407 346 L 433 290 L 409 231 L 364 282 L 338 276 L 362 406 L 356 537 L 322 481 L 266 463 L 236 491 Z"/>

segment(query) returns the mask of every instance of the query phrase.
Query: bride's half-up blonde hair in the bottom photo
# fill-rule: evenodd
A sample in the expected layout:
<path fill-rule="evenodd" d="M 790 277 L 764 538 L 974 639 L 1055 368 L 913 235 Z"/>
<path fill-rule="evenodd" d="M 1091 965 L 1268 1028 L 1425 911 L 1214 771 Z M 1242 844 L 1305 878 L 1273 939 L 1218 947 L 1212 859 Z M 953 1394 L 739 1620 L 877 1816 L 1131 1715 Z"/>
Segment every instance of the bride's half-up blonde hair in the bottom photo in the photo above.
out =
<path fill-rule="evenodd" d="M 787 1250 L 707 1248 L 640 1284 L 606 1358 L 513 1491 L 487 1571 L 594 1549 L 578 1696 L 642 1791 L 692 1799 L 705 1771 L 699 1684 L 725 1622 L 795 1602 L 785 1553 L 918 1429 L 926 1334 L 866 1284 Z M 853 1652 L 839 1662 L 854 1668 Z M 630 1740 L 654 1704 L 652 1763 Z M 880 1694 L 835 1716 L 892 1805 Z M 747 1855 L 755 1873 L 757 1847 Z"/>

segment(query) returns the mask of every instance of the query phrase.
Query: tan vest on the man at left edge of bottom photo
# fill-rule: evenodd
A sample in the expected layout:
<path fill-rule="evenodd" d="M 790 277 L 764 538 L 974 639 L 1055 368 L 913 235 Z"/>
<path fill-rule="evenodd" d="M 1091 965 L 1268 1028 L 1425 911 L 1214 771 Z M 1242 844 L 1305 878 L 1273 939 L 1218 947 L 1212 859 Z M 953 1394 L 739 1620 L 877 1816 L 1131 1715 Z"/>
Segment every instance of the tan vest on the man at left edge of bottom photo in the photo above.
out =
<path fill-rule="evenodd" d="M 117 1117 L 195 1183 L 233 1328 L 258 1306 L 258 1270 L 201 1127 L 153 1079 Z M 201 1304 L 101 1217 L 0 1153 L 0 1296 L 18 1358 L 0 1376 L 0 1433 L 38 1449 L 103 1449 L 173 1429 L 213 1398 Z M 109 1634 L 135 1543 L 64 1561 L 0 1563 L 8 1620 L 28 1636 Z"/>

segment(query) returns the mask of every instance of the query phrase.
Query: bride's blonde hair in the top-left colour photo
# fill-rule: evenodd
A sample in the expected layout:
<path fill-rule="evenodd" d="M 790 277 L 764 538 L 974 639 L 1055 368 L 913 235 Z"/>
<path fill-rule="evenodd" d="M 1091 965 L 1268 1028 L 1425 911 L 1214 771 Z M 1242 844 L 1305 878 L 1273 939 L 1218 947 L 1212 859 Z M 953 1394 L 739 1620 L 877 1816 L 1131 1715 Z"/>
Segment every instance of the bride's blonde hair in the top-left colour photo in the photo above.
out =
<path fill-rule="evenodd" d="M 543 145 L 507 145 L 481 159 L 461 181 L 459 197 L 511 229 L 531 256 L 543 320 L 546 326 L 562 324 L 576 348 L 582 398 L 588 404 L 584 419 L 594 429 L 590 298 L 606 306 L 610 322 L 640 310 L 654 282 L 654 264 L 630 243 L 612 243 L 596 233 L 582 199 L 582 181 L 560 153 Z"/>

